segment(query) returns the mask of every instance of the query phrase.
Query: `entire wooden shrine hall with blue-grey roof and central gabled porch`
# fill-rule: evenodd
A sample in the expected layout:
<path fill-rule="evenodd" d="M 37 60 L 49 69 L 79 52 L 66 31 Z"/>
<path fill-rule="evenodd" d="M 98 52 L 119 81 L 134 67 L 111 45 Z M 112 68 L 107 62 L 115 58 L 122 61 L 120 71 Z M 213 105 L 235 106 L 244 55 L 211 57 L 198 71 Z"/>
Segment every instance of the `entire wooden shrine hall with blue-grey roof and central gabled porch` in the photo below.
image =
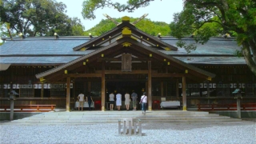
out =
<path fill-rule="evenodd" d="M 136 21 L 138 22 L 138 21 Z M 255 101 L 256 78 L 244 58 L 234 55 L 235 38 L 210 38 L 191 51 L 176 46 L 177 38 L 151 36 L 123 17 L 114 29 L 100 36 L 2 38 L 0 46 L 0 105 L 55 105 L 75 110 L 80 92 L 90 93 L 96 110 L 108 110 L 109 94 L 134 90 L 138 100 L 180 102 L 182 110 L 198 104 Z M 193 38 L 184 38 L 193 43 Z M 158 103 L 158 106 L 160 103 Z M 123 104 L 122 104 L 123 106 Z M 131 107 L 131 106 L 130 106 Z"/>

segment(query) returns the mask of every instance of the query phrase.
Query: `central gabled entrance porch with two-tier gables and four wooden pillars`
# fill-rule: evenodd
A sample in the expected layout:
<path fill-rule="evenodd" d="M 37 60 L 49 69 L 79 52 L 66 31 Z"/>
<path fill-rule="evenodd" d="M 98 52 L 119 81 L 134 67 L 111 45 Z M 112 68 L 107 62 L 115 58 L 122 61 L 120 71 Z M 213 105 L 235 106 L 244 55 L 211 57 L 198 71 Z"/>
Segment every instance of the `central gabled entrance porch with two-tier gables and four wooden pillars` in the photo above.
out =
<path fill-rule="evenodd" d="M 178 81 L 182 80 L 182 110 L 186 110 L 186 78 L 194 82 L 211 80 L 215 74 L 191 66 L 176 58 L 159 52 L 178 50 L 130 24 L 123 17 L 114 30 L 74 47 L 75 51 L 94 50 L 54 69 L 36 74 L 41 82 L 66 81 L 66 110 L 70 110 L 70 82 L 100 81 L 102 110 L 108 98 L 106 82 L 145 82 L 148 110 L 152 110 L 152 82 L 171 81 L 178 96 Z M 162 88 L 163 89 L 163 88 Z M 140 95 L 139 95 L 140 96 Z M 156 98 L 154 98 L 156 99 Z"/>

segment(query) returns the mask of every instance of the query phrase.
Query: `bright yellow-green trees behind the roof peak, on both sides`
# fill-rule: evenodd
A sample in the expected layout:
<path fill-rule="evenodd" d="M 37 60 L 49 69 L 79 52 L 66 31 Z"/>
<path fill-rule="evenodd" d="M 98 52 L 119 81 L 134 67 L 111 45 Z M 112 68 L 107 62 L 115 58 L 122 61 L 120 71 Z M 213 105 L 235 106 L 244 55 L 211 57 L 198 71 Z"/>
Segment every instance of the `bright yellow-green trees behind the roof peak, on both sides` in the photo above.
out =
<path fill-rule="evenodd" d="M 134 22 L 138 18 L 130 18 L 130 22 Z M 122 22 L 122 18 L 115 18 L 117 22 Z M 94 26 L 90 30 L 86 31 L 86 35 L 89 33 L 93 35 L 101 35 L 115 27 L 114 22 L 111 22 L 109 19 L 102 20 L 98 25 Z M 136 24 L 136 27 L 139 30 L 146 32 L 152 36 L 158 35 L 161 33 L 162 36 L 167 36 L 170 34 L 170 27 L 166 22 L 153 22 L 150 19 L 142 19 L 142 21 Z"/>

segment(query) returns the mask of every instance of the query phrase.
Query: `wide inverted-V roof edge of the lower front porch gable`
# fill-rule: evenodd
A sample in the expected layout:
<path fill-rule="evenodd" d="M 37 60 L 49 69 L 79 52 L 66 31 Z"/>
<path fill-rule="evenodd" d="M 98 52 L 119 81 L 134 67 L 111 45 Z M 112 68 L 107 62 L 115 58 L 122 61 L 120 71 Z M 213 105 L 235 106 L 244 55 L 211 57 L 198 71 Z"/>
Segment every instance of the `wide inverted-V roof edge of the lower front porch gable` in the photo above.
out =
<path fill-rule="evenodd" d="M 74 61 L 68 62 L 66 64 L 63 64 L 62 66 L 58 66 L 52 70 L 48 70 L 46 72 L 43 72 L 41 74 L 36 74 L 36 78 L 43 78 L 46 77 L 50 74 L 54 74 L 55 72 L 58 72 L 60 70 L 65 70 L 67 67 L 69 66 L 73 66 L 74 64 L 78 63 L 78 62 L 84 62 L 86 61 L 87 58 L 90 58 L 96 54 L 102 54 L 104 53 L 104 51 L 109 50 L 109 49 L 114 49 L 115 46 L 122 46 L 124 45 L 126 42 L 130 43 L 131 45 L 134 46 L 138 46 L 142 51 L 146 51 L 152 54 L 156 54 L 162 58 L 166 58 L 167 62 L 173 62 L 176 63 L 178 66 L 184 67 L 184 70 L 188 69 L 188 70 L 194 70 L 195 72 L 197 72 L 198 74 L 202 74 L 205 75 L 206 77 L 210 77 L 210 78 L 214 78 L 215 74 L 212 74 L 210 72 L 207 72 L 206 70 L 201 70 L 195 66 L 191 66 L 189 64 L 186 64 L 185 62 L 182 62 L 176 58 L 173 58 L 171 56 L 168 56 L 166 54 L 163 54 L 161 52 L 159 52 L 158 50 L 154 50 L 153 48 L 150 48 L 149 46 L 145 46 L 143 45 L 141 42 L 138 42 L 136 40 L 134 40 L 134 38 L 130 38 L 130 37 L 124 37 L 124 38 L 120 38 L 118 39 L 118 41 L 111 43 L 109 46 L 105 46 L 101 49 L 95 50 L 94 52 L 90 53 L 90 54 L 86 54 L 85 56 L 82 56 L 81 58 L 77 58 Z M 115 50 L 115 49 L 114 49 Z M 136 49 L 138 50 L 138 49 Z"/>

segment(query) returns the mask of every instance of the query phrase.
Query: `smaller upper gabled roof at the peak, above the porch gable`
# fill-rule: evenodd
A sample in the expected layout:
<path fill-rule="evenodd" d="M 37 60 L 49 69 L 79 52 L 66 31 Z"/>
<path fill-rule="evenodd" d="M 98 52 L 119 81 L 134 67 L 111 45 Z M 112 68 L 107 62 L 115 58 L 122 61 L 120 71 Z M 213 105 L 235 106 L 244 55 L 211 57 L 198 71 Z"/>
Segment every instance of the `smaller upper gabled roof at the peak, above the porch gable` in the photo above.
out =
<path fill-rule="evenodd" d="M 120 25 L 115 27 L 114 29 L 102 34 L 97 38 L 91 39 L 89 42 L 83 43 L 82 45 L 75 46 L 73 50 L 81 50 L 89 49 L 93 46 L 98 46 L 104 42 L 108 42 L 113 38 L 117 38 L 118 36 L 122 35 L 121 32 L 124 28 L 132 30 L 132 33 L 136 35 L 136 38 L 139 38 L 143 42 L 150 43 L 153 46 L 162 47 L 164 50 L 178 50 L 176 46 L 172 46 L 166 42 L 162 42 L 158 38 L 151 36 L 150 34 L 146 34 L 142 30 L 138 30 L 134 25 L 130 24 L 130 22 L 123 21 Z"/>

